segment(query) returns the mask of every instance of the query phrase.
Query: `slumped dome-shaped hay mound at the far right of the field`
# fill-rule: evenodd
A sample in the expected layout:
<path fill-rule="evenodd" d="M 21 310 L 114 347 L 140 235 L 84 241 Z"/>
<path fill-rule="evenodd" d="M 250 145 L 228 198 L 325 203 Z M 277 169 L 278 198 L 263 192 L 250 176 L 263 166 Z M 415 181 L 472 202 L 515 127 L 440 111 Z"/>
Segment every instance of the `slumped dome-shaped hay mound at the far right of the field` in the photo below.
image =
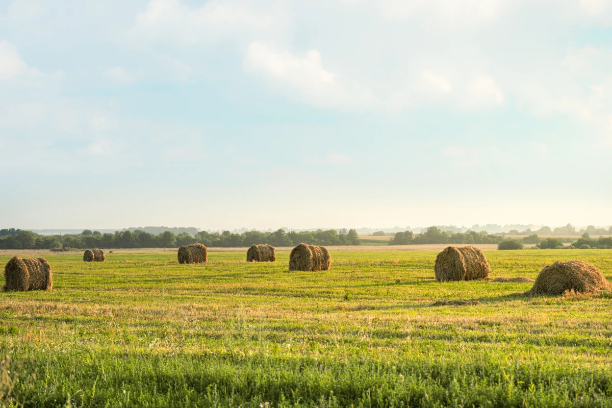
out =
<path fill-rule="evenodd" d="M 554 262 L 544 267 L 535 278 L 528 295 L 562 295 L 565 291 L 596 293 L 610 289 L 602 272 L 594 265 L 582 261 Z"/>

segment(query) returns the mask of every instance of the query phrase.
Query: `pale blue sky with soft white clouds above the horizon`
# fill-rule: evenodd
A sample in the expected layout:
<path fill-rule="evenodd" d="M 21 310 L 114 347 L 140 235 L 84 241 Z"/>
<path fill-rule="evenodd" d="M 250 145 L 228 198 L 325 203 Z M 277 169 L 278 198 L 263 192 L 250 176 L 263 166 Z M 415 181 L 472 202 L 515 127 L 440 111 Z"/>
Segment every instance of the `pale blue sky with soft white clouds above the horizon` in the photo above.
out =
<path fill-rule="evenodd" d="M 0 0 L 0 228 L 612 224 L 610 0 Z"/>

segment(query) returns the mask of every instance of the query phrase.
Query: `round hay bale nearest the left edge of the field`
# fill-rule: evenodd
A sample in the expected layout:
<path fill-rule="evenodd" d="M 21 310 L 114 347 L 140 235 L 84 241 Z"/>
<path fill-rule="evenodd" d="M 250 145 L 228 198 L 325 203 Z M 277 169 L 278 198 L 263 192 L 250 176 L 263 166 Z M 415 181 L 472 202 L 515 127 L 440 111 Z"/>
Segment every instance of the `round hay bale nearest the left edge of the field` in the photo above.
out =
<path fill-rule="evenodd" d="M 45 258 L 14 256 L 4 267 L 4 280 L 4 291 L 48 291 L 53 286 L 53 273 Z"/>

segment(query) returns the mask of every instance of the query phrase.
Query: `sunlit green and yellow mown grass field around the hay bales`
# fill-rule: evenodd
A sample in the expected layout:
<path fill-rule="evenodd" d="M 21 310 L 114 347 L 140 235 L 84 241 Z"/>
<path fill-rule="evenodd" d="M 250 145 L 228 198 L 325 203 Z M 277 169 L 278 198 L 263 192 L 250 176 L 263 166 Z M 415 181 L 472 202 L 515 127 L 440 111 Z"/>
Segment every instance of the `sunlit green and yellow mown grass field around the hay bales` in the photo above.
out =
<path fill-rule="evenodd" d="M 493 278 L 580 259 L 612 280 L 612 250 L 485 253 Z M 286 251 L 34 254 L 54 286 L 0 293 L 4 406 L 612 406 L 609 292 L 436 283 L 435 251 L 331 251 L 330 271 L 291 273 Z M 431 306 L 446 299 L 483 304 Z"/>

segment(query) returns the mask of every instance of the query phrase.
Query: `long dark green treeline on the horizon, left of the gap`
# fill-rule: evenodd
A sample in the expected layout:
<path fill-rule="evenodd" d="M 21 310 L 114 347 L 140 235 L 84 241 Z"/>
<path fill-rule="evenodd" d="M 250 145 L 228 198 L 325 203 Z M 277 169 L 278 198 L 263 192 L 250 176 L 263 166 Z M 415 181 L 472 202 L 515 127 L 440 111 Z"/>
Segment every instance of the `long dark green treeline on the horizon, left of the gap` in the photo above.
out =
<path fill-rule="evenodd" d="M 318 230 L 314 232 L 274 232 L 246 231 L 233 234 L 230 231 L 201 231 L 192 236 L 188 232 L 175 235 L 164 231 L 154 235 L 140 229 L 135 231 L 116 231 L 114 234 L 101 234 L 99 231 L 84 230 L 81 234 L 41 236 L 32 231 L 21 229 L 0 230 L 0 249 L 51 249 L 51 248 L 176 248 L 200 242 L 206 247 L 250 247 L 253 244 L 269 243 L 274 247 L 292 247 L 298 243 L 311 245 L 360 245 L 359 236 L 354 229 L 337 231 Z"/>

